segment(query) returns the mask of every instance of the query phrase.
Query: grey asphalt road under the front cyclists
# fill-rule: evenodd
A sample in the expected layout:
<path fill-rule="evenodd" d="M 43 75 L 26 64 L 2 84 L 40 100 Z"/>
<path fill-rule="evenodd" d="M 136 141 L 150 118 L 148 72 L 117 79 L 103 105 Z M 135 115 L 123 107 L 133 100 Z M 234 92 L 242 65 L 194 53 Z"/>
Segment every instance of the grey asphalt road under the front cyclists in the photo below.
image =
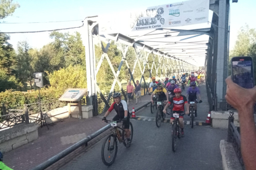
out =
<path fill-rule="evenodd" d="M 153 121 L 131 120 L 134 139 L 130 148 L 118 145 L 117 158 L 111 166 L 101 161 L 104 139 L 88 152 L 77 156 L 60 169 L 222 169 L 220 140 L 226 129 L 210 126 L 185 126 L 185 137 L 177 140 L 176 153 L 171 150 L 171 124 L 158 128 Z"/>

